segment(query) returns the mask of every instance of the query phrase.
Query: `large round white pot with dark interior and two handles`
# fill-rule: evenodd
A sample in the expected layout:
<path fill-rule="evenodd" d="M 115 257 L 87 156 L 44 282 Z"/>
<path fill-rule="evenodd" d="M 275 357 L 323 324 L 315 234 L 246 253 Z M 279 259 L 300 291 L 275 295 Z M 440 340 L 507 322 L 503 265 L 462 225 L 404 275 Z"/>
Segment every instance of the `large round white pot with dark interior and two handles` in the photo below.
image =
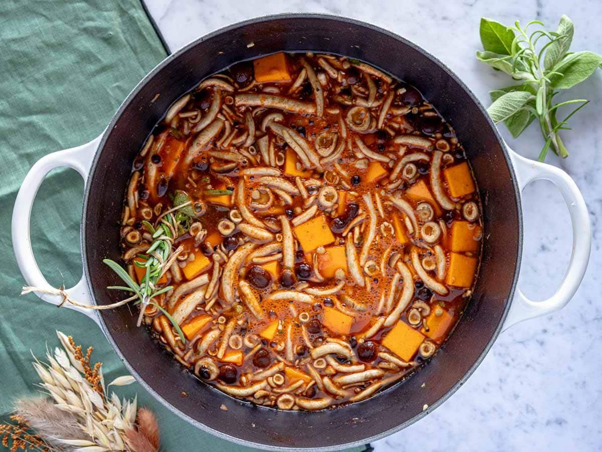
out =
<path fill-rule="evenodd" d="M 253 43 L 253 45 L 250 45 Z M 201 383 L 135 327 L 127 308 L 91 312 L 133 376 L 170 410 L 199 429 L 255 447 L 334 450 L 397 432 L 427 415 L 461 386 L 504 328 L 562 308 L 585 273 L 591 246 L 588 211 L 566 173 L 518 156 L 504 144 L 474 94 L 432 55 L 384 29 L 343 17 L 285 14 L 248 20 L 211 33 L 155 67 L 125 99 L 105 132 L 83 146 L 40 159 L 23 181 L 13 214 L 13 244 L 29 285 L 48 287 L 29 241 L 37 188 L 55 167 L 72 167 L 85 181 L 81 223 L 84 275 L 67 290 L 83 303 L 106 305 L 116 276 L 102 259 L 119 259 L 123 194 L 141 144 L 175 99 L 232 63 L 276 51 L 322 51 L 364 60 L 415 85 L 456 129 L 483 200 L 485 239 L 479 279 L 464 317 L 419 377 L 361 403 L 320 412 L 285 412 L 229 398 Z M 157 96 L 160 94 L 160 96 Z M 559 188 L 573 222 L 573 254 L 560 288 L 543 302 L 515 289 L 523 245 L 521 190 L 535 179 Z M 60 297 L 42 295 L 58 304 Z M 152 353 L 152 359 L 149 359 Z M 426 383 L 429 391 L 421 389 Z M 182 397 L 182 391 L 188 397 Z M 220 409 L 225 404 L 228 410 Z M 428 406 L 423 410 L 424 406 Z"/>

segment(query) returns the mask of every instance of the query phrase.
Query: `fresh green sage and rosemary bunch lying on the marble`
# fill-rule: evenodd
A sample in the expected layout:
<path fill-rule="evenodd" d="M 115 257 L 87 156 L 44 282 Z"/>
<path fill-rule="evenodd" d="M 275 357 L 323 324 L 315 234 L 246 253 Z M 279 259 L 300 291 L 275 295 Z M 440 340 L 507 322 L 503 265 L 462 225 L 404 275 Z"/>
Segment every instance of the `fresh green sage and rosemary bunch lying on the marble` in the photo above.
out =
<path fill-rule="evenodd" d="M 537 28 L 530 31 L 533 26 Z M 532 20 L 522 28 L 518 20 L 514 26 L 505 26 L 483 17 L 480 23 L 483 51 L 477 52 L 479 61 L 520 81 L 490 91 L 493 103 L 487 111 L 496 124 L 506 124 L 514 138 L 537 119 L 545 138 L 539 161 L 545 160 L 550 149 L 563 158 L 568 156 L 559 132 L 569 130 L 568 120 L 589 102 L 573 99 L 555 104 L 556 94 L 574 87 L 602 67 L 601 55 L 569 52 L 574 27 L 567 16 L 562 16 L 556 31 L 546 31 L 543 27 L 539 20 Z M 568 105 L 576 108 L 559 120 L 559 110 Z"/>

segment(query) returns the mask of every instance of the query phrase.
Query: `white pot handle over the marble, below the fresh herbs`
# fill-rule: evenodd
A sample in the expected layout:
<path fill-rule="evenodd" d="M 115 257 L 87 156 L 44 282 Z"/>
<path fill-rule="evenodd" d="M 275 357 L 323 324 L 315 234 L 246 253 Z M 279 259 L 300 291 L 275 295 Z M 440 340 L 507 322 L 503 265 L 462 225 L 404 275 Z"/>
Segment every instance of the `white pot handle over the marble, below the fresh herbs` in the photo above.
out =
<path fill-rule="evenodd" d="M 571 215 L 573 251 L 560 286 L 556 293 L 547 300 L 535 302 L 527 298 L 520 288 L 517 288 L 510 311 L 504 321 L 504 330 L 523 320 L 550 314 L 563 308 L 574 296 L 583 279 L 588 267 L 592 242 L 588 208 L 571 176 L 555 166 L 524 158 L 514 150 L 508 149 L 521 192 L 527 185 L 538 179 L 550 181 L 560 190 Z"/>

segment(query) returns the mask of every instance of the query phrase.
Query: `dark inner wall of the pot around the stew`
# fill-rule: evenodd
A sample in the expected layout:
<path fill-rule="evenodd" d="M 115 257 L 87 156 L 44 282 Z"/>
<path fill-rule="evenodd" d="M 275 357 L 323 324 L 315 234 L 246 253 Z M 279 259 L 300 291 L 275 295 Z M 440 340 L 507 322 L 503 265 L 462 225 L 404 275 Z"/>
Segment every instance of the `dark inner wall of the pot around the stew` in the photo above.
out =
<path fill-rule="evenodd" d="M 254 43 L 249 47 L 250 43 Z M 485 244 L 474 298 L 429 364 L 405 382 L 362 403 L 322 412 L 279 412 L 227 397 L 199 382 L 143 328 L 128 308 L 101 311 L 117 352 L 149 390 L 180 414 L 264 447 L 334 447 L 365 442 L 407 426 L 464 381 L 497 335 L 514 289 L 520 256 L 518 197 L 491 123 L 441 63 L 373 26 L 328 16 L 277 16 L 220 30 L 178 52 L 147 76 L 114 117 L 88 180 L 84 267 L 98 304 L 117 301 L 105 286 L 116 276 L 102 259 L 119 259 L 117 222 L 132 160 L 169 105 L 201 79 L 240 60 L 276 51 L 322 51 L 364 60 L 417 87 L 456 129 L 474 168 L 484 205 Z M 157 94 L 159 94 L 157 96 Z M 426 389 L 421 385 L 426 383 Z M 450 392 L 451 391 L 451 392 Z M 182 392 L 187 397 L 182 397 Z M 220 409 L 226 404 L 228 411 Z"/>

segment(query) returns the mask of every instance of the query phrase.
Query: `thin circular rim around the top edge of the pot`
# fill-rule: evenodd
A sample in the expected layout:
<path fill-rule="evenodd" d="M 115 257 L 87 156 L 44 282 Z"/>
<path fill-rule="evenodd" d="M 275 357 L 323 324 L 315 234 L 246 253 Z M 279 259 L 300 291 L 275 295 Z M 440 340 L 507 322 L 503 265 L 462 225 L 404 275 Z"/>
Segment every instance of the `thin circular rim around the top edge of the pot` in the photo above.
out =
<path fill-rule="evenodd" d="M 211 433 L 212 435 L 217 436 L 220 439 L 225 439 L 227 441 L 234 442 L 235 444 L 238 444 L 238 445 L 262 448 L 264 450 L 299 450 L 299 451 L 308 451 L 308 452 L 309 451 L 334 451 L 334 450 L 341 450 L 343 448 L 358 447 L 361 445 L 365 445 L 370 442 L 385 438 L 386 436 L 392 435 L 393 433 L 399 432 L 400 430 L 403 430 L 406 427 L 411 426 L 411 424 L 414 424 L 416 421 L 420 420 L 421 418 L 426 416 L 428 413 L 432 412 L 433 410 L 435 410 L 436 408 L 441 406 L 441 404 L 444 403 L 445 400 L 447 400 L 449 397 L 452 396 L 452 394 L 454 394 L 456 391 L 458 391 L 458 389 L 462 385 L 464 385 L 464 383 L 468 380 L 468 378 L 474 373 L 476 368 L 479 367 L 479 365 L 481 364 L 483 359 L 485 359 L 485 356 L 488 354 L 489 350 L 491 350 L 491 347 L 494 344 L 495 339 L 497 339 L 498 335 L 501 332 L 504 321 L 506 320 L 507 314 L 509 312 L 510 305 L 512 304 L 512 299 L 514 298 L 515 290 L 517 288 L 518 275 L 520 273 L 521 258 L 522 258 L 522 252 L 523 252 L 523 209 L 521 206 L 521 193 L 520 193 L 520 189 L 518 187 L 517 176 L 516 176 L 514 166 L 512 164 L 512 159 L 510 158 L 505 141 L 501 137 L 500 133 L 498 132 L 497 128 L 495 127 L 495 125 L 492 122 L 489 115 L 486 113 L 486 110 L 483 107 L 483 105 L 480 103 L 479 99 L 477 99 L 477 97 L 475 96 L 473 91 L 471 91 L 470 88 L 467 87 L 467 85 L 462 81 L 462 79 L 459 78 L 459 76 L 456 75 L 455 72 L 453 72 L 449 67 L 447 67 L 446 64 L 442 63 L 442 61 L 439 60 L 437 57 L 430 54 L 429 52 L 427 52 L 425 49 L 421 48 L 420 46 L 409 41 L 408 39 L 405 39 L 404 37 L 399 36 L 398 34 L 393 33 L 391 31 L 388 31 L 387 29 L 384 29 L 380 26 L 372 25 L 371 23 L 363 22 L 362 20 L 352 19 L 350 17 L 337 16 L 336 14 L 321 14 L 321 13 L 283 13 L 283 14 L 268 14 L 266 16 L 253 17 L 252 19 L 247 19 L 247 20 L 243 20 L 241 22 L 232 23 L 231 25 L 223 26 L 222 28 L 219 28 L 219 29 L 216 29 L 215 31 L 207 33 L 207 34 L 203 35 L 202 37 L 199 37 L 199 38 L 191 41 L 187 45 L 182 46 L 181 48 L 179 48 L 172 54 L 167 55 L 167 57 L 163 61 L 161 61 L 159 64 L 157 64 L 157 66 L 155 66 L 149 73 L 147 73 L 147 75 L 145 75 L 140 80 L 140 82 L 138 82 L 138 84 L 132 89 L 132 91 L 128 94 L 128 96 L 123 100 L 122 104 L 119 106 L 116 113 L 111 118 L 111 121 L 108 124 L 107 128 L 103 132 L 101 142 L 99 143 L 99 146 L 95 152 L 95 156 L 92 160 L 92 165 L 90 167 L 90 172 L 88 173 L 88 178 L 85 181 L 84 202 L 83 202 L 83 206 L 82 206 L 82 217 L 81 217 L 81 228 L 80 228 L 82 266 L 83 266 L 83 270 L 84 270 L 84 275 L 85 275 L 88 291 L 90 293 L 90 297 L 92 299 L 92 302 L 94 304 L 97 304 L 95 297 L 94 297 L 94 291 L 93 291 L 92 285 L 90 283 L 90 281 L 92 279 L 90 277 L 89 268 L 88 268 L 88 264 L 87 264 L 88 250 L 87 250 L 87 247 L 85 244 L 86 237 L 85 237 L 84 224 L 85 224 L 85 220 L 87 217 L 88 198 L 90 195 L 90 191 L 89 191 L 90 184 L 88 182 L 91 181 L 93 179 L 93 177 L 95 176 L 96 166 L 98 164 L 99 156 L 102 152 L 102 149 L 104 149 L 105 143 L 108 139 L 108 136 L 110 135 L 110 132 L 116 126 L 116 123 L 119 122 L 119 119 L 122 116 L 123 111 L 126 109 L 126 107 L 128 107 L 128 105 L 132 101 L 132 99 L 134 99 L 138 95 L 141 88 L 144 85 L 146 85 L 146 83 L 151 78 L 153 78 L 158 72 L 160 72 L 160 70 L 162 70 L 166 66 L 169 66 L 169 64 L 173 60 L 175 60 L 177 57 L 179 57 L 179 55 L 183 54 L 184 52 L 187 52 L 189 49 L 193 48 L 200 42 L 203 42 L 206 39 L 210 39 L 214 36 L 218 36 L 223 33 L 228 33 L 228 31 L 235 29 L 235 28 L 239 28 L 241 26 L 252 25 L 252 24 L 261 23 L 261 22 L 268 22 L 270 20 L 282 20 L 282 19 L 285 19 L 285 20 L 287 20 L 287 19 L 337 20 L 339 22 L 351 23 L 353 25 L 362 26 L 364 28 L 368 28 L 368 29 L 371 29 L 378 33 L 385 34 L 386 36 L 392 37 L 393 39 L 396 39 L 396 40 L 402 42 L 403 44 L 405 44 L 406 46 L 409 46 L 412 49 L 414 49 L 415 51 L 419 52 L 421 55 L 423 55 L 423 57 L 429 58 L 434 63 L 436 63 L 456 83 L 458 83 L 458 85 L 460 85 L 462 87 L 462 89 L 470 97 L 471 101 L 473 101 L 474 104 L 476 104 L 477 108 L 479 108 L 480 113 L 483 116 L 485 116 L 485 119 L 489 123 L 489 127 L 491 128 L 491 131 L 493 132 L 495 138 L 500 143 L 500 146 L 501 146 L 501 149 L 502 149 L 502 152 L 504 155 L 504 159 L 506 160 L 506 164 L 507 164 L 508 168 L 510 169 L 510 172 L 509 172 L 510 180 L 512 182 L 512 187 L 514 188 L 515 201 L 517 203 L 517 212 L 518 212 L 518 231 L 517 231 L 518 232 L 518 249 L 517 249 L 517 258 L 516 258 L 514 276 L 512 279 L 512 284 L 510 285 L 509 297 L 506 300 L 506 306 L 504 306 L 504 310 L 501 315 L 500 321 L 499 321 L 497 327 L 495 328 L 494 332 L 492 333 L 491 339 L 489 340 L 488 344 L 483 349 L 483 351 L 480 353 L 479 358 L 477 358 L 477 360 L 474 362 L 474 364 L 471 365 L 471 367 L 468 369 L 468 371 L 441 398 L 439 398 L 435 403 L 430 405 L 428 407 L 428 409 L 423 410 L 422 412 L 418 413 L 414 417 L 408 419 L 408 421 L 405 421 L 404 423 L 399 424 L 398 426 L 393 427 L 392 429 L 386 430 L 385 432 L 381 432 L 378 435 L 373 435 L 368 438 L 364 438 L 364 439 L 362 439 L 362 441 L 341 442 L 340 444 L 326 446 L 326 447 L 311 447 L 311 448 L 276 447 L 276 446 L 272 446 L 272 445 L 265 445 L 265 444 L 260 444 L 257 442 L 247 441 L 244 439 L 237 438 L 235 436 L 228 435 L 227 433 L 220 432 L 219 430 L 208 427 L 205 424 L 200 423 L 196 419 L 191 418 L 190 416 L 186 415 L 181 410 L 179 410 L 177 407 L 170 404 L 167 400 L 165 400 L 163 397 L 161 397 L 161 395 L 159 395 L 150 385 L 148 385 L 148 383 L 146 383 L 146 381 L 143 380 L 140 377 L 140 375 L 134 370 L 134 368 L 129 364 L 128 360 L 123 355 L 120 348 L 117 346 L 117 343 L 113 339 L 113 336 L 111 335 L 110 331 L 108 330 L 107 324 L 105 323 L 102 315 L 98 315 L 98 318 L 99 318 L 99 325 L 101 326 L 101 329 L 104 332 L 104 335 L 107 337 L 108 341 L 110 342 L 111 347 L 113 348 L 113 350 L 115 351 L 115 353 L 117 354 L 117 356 L 119 357 L 119 359 L 123 363 L 123 365 L 125 365 L 125 367 L 132 374 L 132 376 L 135 377 L 135 379 L 138 381 L 138 383 L 140 383 L 140 385 L 143 386 L 143 388 L 146 389 L 146 391 L 148 391 L 152 395 L 152 397 L 154 397 L 156 400 L 160 401 L 160 403 L 163 404 L 163 406 L 165 406 L 172 413 L 175 413 L 181 419 L 184 419 L 185 421 L 187 421 L 188 423 L 190 423 L 192 426 L 196 427 L 197 429 L 203 430 L 204 432 L 207 432 L 207 433 Z M 386 68 L 383 68 L 383 69 L 386 70 Z M 462 321 L 462 319 L 460 319 L 460 321 Z M 394 386 L 396 386 L 396 385 L 394 385 Z M 392 388 L 394 386 L 392 386 Z M 229 397 L 229 396 L 225 395 L 225 397 Z M 341 409 L 344 409 L 344 407 L 342 407 Z"/>

